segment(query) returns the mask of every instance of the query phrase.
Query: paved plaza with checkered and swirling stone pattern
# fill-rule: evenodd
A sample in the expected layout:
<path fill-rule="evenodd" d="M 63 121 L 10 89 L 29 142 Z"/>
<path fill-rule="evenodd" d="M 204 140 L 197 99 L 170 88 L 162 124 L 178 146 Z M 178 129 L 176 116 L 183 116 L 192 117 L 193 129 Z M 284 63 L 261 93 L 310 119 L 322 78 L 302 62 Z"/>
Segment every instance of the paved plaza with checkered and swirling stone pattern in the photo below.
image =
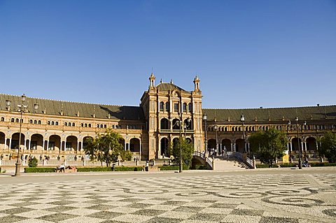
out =
<path fill-rule="evenodd" d="M 336 222 L 336 168 L 0 175 L 0 222 Z"/>

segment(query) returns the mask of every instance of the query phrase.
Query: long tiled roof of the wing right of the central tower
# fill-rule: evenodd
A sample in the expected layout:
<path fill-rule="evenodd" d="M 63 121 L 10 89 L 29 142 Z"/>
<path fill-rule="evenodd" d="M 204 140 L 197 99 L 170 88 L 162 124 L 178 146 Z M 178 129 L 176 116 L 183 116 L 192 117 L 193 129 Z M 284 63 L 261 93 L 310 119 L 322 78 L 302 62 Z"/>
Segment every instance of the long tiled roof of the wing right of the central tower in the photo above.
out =
<path fill-rule="evenodd" d="M 282 120 L 321 120 L 336 119 L 336 106 L 312 106 L 297 108 L 244 108 L 244 109 L 202 109 L 207 114 L 207 120 L 217 122 L 240 122 L 244 114 L 245 122 L 282 121 Z"/>

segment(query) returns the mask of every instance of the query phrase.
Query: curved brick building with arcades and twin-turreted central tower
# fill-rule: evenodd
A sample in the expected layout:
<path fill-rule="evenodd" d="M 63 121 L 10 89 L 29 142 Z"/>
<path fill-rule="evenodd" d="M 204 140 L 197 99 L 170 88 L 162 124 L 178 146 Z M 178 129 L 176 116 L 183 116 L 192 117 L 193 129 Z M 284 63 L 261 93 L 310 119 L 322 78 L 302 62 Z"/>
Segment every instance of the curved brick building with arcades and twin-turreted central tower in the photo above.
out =
<path fill-rule="evenodd" d="M 0 159 L 16 159 L 19 147 L 21 159 L 88 159 L 85 141 L 106 128 L 118 132 L 124 149 L 140 160 L 165 157 L 169 145 L 182 135 L 193 142 L 195 151 L 207 147 L 216 154 L 244 153 L 250 149 L 248 136 L 273 127 L 288 134 L 290 157 L 297 157 L 300 146 L 313 158 L 317 139 L 325 131 L 336 131 L 336 106 L 204 109 L 200 79 L 193 82 L 192 91 L 172 81 L 155 85 L 152 73 L 140 106 L 29 97 L 22 101 L 21 96 L 0 94 Z"/>

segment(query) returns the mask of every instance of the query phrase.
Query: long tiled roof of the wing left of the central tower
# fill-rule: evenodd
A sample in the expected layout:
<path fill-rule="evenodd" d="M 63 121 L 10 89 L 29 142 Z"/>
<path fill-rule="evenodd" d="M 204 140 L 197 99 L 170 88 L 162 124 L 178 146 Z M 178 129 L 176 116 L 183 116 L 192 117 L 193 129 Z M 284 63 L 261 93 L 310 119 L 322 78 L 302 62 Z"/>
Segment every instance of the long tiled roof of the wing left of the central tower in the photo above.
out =
<path fill-rule="evenodd" d="M 10 100 L 11 110 L 15 110 L 18 104 L 21 104 L 21 96 L 13 96 L 8 94 L 0 94 L 0 110 L 6 110 L 6 100 Z M 36 113 L 46 115 L 60 115 L 63 110 L 63 115 L 76 117 L 95 117 L 108 118 L 119 120 L 144 120 L 144 113 L 141 107 L 137 106 L 111 106 L 94 103 L 78 103 L 69 101 L 55 101 L 50 99 L 35 99 L 27 97 L 28 109 L 34 111 L 34 103 L 38 103 Z"/>

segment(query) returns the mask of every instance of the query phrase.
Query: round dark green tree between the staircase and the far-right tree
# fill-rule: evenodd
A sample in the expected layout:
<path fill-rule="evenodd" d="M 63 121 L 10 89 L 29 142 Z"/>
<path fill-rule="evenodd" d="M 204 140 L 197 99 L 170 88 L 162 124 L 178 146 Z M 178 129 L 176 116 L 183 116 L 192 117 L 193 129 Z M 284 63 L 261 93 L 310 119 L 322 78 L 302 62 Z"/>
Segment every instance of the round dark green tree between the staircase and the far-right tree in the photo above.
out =
<path fill-rule="evenodd" d="M 283 131 L 268 129 L 252 134 L 248 141 L 252 152 L 260 155 L 260 161 L 272 166 L 276 158 L 283 157 L 287 149 L 287 136 Z"/>

